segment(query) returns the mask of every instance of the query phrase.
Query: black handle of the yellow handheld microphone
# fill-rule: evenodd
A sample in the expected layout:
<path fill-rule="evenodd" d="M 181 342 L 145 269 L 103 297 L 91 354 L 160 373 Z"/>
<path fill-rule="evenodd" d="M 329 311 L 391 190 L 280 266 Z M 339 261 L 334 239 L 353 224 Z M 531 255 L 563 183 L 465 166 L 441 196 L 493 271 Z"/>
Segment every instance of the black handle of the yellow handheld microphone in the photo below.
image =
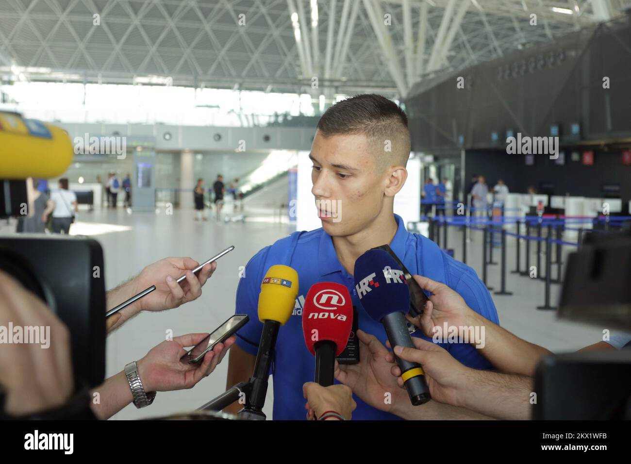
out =
<path fill-rule="evenodd" d="M 250 379 L 252 390 L 249 398 L 246 398 L 248 407 L 256 411 L 262 410 L 265 396 L 268 393 L 269 368 L 274 358 L 278 329 L 280 329 L 280 322 L 278 321 L 266 320 L 263 323 L 259 351 L 256 354 L 256 364 L 254 364 L 254 374 Z"/>

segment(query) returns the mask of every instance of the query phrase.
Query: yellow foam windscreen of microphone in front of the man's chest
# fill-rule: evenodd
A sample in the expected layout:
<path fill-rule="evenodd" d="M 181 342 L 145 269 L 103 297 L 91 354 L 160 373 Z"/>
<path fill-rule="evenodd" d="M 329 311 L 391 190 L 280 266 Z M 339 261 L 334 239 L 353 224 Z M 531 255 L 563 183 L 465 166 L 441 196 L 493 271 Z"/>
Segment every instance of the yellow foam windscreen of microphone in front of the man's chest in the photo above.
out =
<path fill-rule="evenodd" d="M 285 325 L 292 316 L 297 296 L 298 273 L 289 266 L 271 266 L 261 282 L 259 321 Z"/>

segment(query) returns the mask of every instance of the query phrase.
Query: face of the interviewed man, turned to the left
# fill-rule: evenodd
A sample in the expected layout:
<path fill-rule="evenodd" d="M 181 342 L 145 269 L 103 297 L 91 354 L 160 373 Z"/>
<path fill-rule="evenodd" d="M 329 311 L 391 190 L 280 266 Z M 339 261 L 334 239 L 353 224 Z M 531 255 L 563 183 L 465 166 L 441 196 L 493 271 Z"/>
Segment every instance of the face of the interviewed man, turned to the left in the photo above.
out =
<path fill-rule="evenodd" d="M 311 193 L 327 234 L 357 234 L 379 215 L 388 172 L 376 167 L 365 135 L 324 137 L 317 131 L 309 157 Z"/>

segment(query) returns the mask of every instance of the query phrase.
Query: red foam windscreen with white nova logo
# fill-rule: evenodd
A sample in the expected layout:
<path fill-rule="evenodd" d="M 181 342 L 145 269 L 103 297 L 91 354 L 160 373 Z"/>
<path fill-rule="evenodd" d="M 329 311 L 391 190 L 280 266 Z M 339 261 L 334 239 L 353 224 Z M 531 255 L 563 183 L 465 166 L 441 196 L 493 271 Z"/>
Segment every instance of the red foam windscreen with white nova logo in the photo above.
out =
<path fill-rule="evenodd" d="M 312 355 L 315 343 L 329 340 L 335 343 L 338 356 L 346 348 L 352 325 L 353 302 L 344 285 L 319 282 L 311 286 L 302 308 L 302 332 Z"/>

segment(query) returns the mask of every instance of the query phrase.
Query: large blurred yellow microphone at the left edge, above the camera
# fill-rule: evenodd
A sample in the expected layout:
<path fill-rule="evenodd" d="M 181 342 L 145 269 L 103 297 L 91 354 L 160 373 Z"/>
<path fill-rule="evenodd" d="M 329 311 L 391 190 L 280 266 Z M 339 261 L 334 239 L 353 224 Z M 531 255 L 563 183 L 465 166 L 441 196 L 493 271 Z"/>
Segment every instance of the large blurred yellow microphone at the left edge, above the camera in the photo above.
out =
<path fill-rule="evenodd" d="M 0 179 L 50 179 L 73 161 L 73 144 L 64 129 L 0 111 Z"/>

